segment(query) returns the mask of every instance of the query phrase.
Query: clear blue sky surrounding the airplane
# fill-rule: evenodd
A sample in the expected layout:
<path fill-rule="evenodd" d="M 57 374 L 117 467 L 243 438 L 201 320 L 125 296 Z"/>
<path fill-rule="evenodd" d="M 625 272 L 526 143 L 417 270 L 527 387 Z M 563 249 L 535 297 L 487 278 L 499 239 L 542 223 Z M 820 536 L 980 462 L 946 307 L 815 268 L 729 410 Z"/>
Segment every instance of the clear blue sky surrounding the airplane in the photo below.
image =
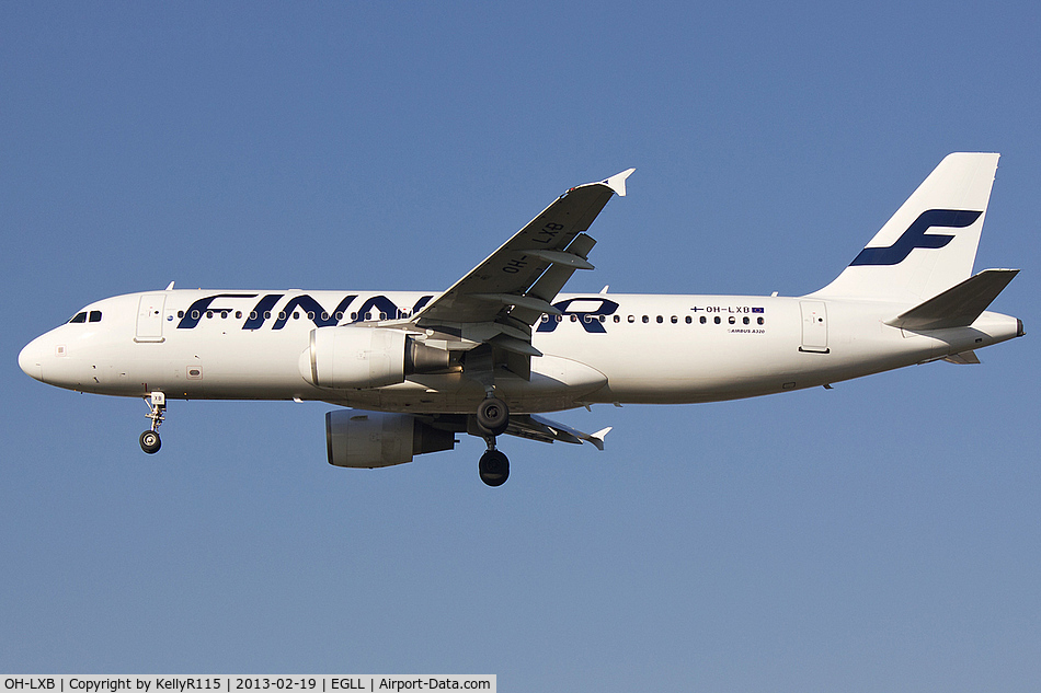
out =
<path fill-rule="evenodd" d="M 0 671 L 482 672 L 502 691 L 1041 688 L 1041 9 L 4 3 Z M 848 4 L 848 3 L 846 3 Z M 629 166 L 569 289 L 801 294 L 951 151 L 1025 339 L 607 450 L 325 463 L 320 404 L 145 405 L 19 349 L 180 287 L 441 290 Z M 633 354 L 639 358 L 639 354 Z"/>

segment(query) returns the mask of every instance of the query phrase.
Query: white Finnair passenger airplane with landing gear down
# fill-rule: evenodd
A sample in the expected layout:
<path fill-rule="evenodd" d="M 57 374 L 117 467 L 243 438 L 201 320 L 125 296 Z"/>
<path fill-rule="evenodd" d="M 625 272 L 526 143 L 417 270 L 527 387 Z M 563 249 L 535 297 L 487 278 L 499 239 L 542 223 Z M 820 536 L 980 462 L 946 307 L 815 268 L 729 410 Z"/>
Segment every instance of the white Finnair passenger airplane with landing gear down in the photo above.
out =
<path fill-rule="evenodd" d="M 33 339 L 19 366 L 79 392 L 322 401 L 330 464 L 384 467 L 500 436 L 588 442 L 542 416 L 593 404 L 718 402 L 946 360 L 979 363 L 1022 321 L 987 311 L 1018 269 L 972 274 L 998 154 L 952 153 L 824 288 L 800 297 L 560 293 L 593 269 L 586 231 L 633 169 L 557 198 L 443 292 L 182 290 L 107 298 Z"/>

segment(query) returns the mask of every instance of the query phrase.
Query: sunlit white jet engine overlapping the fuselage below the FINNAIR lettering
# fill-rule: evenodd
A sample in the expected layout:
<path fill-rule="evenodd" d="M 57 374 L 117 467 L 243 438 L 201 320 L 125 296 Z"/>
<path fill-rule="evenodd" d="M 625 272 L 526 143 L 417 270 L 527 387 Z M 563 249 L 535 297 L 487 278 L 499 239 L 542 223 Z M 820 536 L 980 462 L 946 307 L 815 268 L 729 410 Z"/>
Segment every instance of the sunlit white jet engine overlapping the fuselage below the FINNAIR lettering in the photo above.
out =
<path fill-rule="evenodd" d="M 400 330 L 319 327 L 311 331 L 302 376 L 319 388 L 380 388 L 404 382 L 413 373 L 449 369 L 450 355 L 428 347 Z"/>

